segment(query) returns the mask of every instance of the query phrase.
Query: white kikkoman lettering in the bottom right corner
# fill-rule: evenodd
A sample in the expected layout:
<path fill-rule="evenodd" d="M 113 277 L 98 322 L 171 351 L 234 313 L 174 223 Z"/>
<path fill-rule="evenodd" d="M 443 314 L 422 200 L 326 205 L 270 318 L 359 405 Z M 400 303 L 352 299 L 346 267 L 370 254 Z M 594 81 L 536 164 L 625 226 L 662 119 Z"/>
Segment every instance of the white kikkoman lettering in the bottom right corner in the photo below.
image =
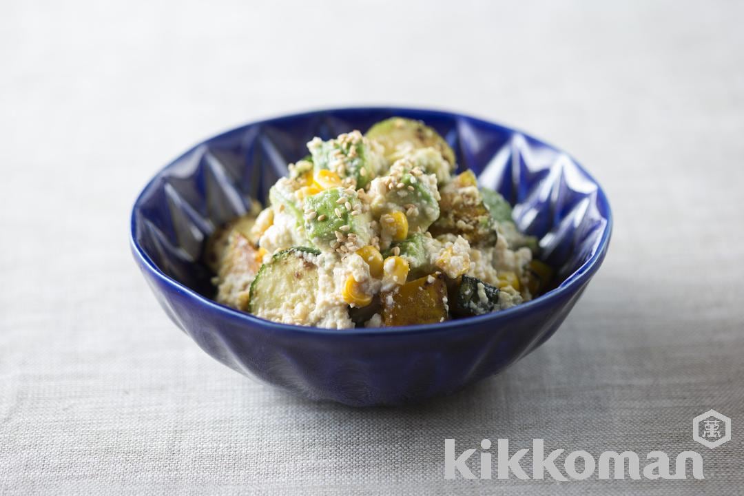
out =
<path fill-rule="evenodd" d="M 496 443 L 496 471 L 494 471 L 491 453 L 491 440 L 481 441 L 481 452 L 475 457 L 480 463 L 469 463 L 478 451 L 469 448 L 458 454 L 455 451 L 455 439 L 444 439 L 444 478 L 455 479 L 459 473 L 466 479 L 475 479 L 471 465 L 478 466 L 478 477 L 481 479 L 508 479 L 513 474 L 518 479 L 544 479 L 547 473 L 554 480 L 585 480 L 595 472 L 600 479 L 687 479 L 687 462 L 691 462 L 692 476 L 696 479 L 705 478 L 702 473 L 702 457 L 696 451 L 682 451 L 676 456 L 674 472 L 671 471 L 669 455 L 664 451 L 651 451 L 646 455 L 644 467 L 641 470 L 641 457 L 634 451 L 603 451 L 599 457 L 594 457 L 588 451 L 571 451 L 563 460 L 563 470 L 557 465 L 558 458 L 563 454 L 562 449 L 551 451 L 545 455 L 545 441 L 532 440 L 532 473 L 528 474 L 522 466 L 522 458 L 529 453 L 529 448 L 517 450 L 514 454 L 509 451 L 509 439 L 498 439 Z M 526 466 L 526 463 L 525 463 Z M 612 470 L 611 470 L 612 468 Z M 612 475 L 611 475 L 612 474 Z M 494 477 L 496 475 L 496 477 Z"/>

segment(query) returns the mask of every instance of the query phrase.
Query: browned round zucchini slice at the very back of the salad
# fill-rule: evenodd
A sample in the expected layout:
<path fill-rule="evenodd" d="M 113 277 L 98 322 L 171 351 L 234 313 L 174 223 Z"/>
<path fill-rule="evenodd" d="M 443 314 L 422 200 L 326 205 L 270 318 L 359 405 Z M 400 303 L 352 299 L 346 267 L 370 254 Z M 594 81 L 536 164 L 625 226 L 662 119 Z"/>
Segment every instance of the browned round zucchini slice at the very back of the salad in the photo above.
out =
<path fill-rule="evenodd" d="M 414 149 L 431 147 L 440 152 L 450 166 L 455 166 L 455 152 L 444 138 L 420 120 L 391 117 L 374 124 L 365 134 L 385 149 L 385 158 L 394 162 Z"/>

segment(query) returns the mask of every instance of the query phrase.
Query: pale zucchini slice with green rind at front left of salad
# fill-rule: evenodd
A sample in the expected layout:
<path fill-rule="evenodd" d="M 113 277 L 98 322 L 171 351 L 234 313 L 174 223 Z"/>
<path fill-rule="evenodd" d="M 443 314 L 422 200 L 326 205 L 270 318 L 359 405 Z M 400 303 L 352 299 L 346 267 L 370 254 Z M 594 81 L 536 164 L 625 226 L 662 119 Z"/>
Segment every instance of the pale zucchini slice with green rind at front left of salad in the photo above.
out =
<path fill-rule="evenodd" d="M 315 248 L 288 248 L 261 265 L 251 284 L 248 312 L 281 321 L 283 309 L 299 305 L 315 308 L 318 292 L 315 257 L 319 254 Z"/>

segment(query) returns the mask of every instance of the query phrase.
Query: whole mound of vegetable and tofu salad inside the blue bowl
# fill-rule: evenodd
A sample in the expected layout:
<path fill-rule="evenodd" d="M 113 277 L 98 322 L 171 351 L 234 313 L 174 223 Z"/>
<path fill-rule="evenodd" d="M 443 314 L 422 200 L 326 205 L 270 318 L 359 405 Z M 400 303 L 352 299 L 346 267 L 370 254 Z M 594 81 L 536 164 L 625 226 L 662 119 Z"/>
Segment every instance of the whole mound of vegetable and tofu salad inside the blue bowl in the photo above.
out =
<path fill-rule="evenodd" d="M 551 285 L 536 237 L 421 120 L 390 117 L 308 155 L 207 239 L 218 303 L 278 323 L 409 326 L 509 309 Z"/>

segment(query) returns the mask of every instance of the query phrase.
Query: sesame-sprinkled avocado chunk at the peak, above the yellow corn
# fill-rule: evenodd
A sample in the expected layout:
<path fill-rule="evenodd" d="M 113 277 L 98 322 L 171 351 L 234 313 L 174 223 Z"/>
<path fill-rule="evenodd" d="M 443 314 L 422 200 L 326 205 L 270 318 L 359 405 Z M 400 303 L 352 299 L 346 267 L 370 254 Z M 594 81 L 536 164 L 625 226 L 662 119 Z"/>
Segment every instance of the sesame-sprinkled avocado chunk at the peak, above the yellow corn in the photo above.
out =
<path fill-rule="evenodd" d="M 341 179 L 350 178 L 355 188 L 366 187 L 385 168 L 385 158 L 379 145 L 369 141 L 359 131 L 344 133 L 338 138 L 321 141 L 315 138 L 307 144 L 315 170 L 327 169 Z M 345 184 L 345 183 L 344 183 Z"/>

